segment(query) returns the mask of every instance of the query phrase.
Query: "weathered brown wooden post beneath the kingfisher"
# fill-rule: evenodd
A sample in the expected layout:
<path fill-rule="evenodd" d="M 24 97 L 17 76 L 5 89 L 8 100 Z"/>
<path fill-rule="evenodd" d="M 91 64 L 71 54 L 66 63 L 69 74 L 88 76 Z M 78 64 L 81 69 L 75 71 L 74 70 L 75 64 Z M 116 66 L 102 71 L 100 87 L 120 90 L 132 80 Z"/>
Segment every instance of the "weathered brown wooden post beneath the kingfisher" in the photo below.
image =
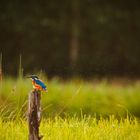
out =
<path fill-rule="evenodd" d="M 29 140 L 41 140 L 43 136 L 39 136 L 39 125 L 41 121 L 41 94 L 37 90 L 29 93 L 28 99 L 28 125 Z"/>

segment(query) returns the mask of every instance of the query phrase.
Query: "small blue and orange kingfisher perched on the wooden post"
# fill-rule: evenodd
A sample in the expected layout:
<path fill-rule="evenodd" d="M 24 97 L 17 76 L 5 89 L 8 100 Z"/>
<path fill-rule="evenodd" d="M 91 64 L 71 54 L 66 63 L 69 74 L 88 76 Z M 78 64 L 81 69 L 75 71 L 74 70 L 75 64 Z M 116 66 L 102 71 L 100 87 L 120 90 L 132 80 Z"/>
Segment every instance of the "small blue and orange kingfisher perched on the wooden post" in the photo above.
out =
<path fill-rule="evenodd" d="M 38 91 L 48 92 L 47 86 L 42 82 L 42 80 L 38 78 L 38 76 L 31 75 L 31 76 L 27 76 L 27 78 L 30 78 L 32 80 L 33 89 L 36 89 Z"/>

